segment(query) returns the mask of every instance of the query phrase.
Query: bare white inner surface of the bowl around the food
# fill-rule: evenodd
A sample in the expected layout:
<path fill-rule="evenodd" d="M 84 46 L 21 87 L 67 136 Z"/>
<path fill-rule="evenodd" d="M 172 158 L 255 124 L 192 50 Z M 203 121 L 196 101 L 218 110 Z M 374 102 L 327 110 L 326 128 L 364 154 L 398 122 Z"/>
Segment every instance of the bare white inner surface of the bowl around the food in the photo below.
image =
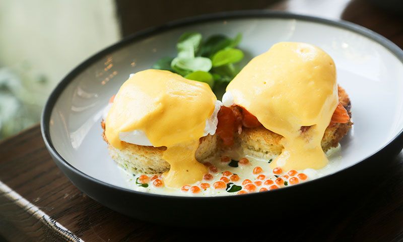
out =
<path fill-rule="evenodd" d="M 403 127 L 403 64 L 381 44 L 322 23 L 229 19 L 176 28 L 128 44 L 78 75 L 61 93 L 50 119 L 51 141 L 66 161 L 94 178 L 129 188 L 102 140 L 102 109 L 130 73 L 150 68 L 160 57 L 174 56 L 176 40 L 185 31 L 204 36 L 242 33 L 239 48 L 247 53 L 245 59 L 280 41 L 308 42 L 329 53 L 337 67 L 338 82 L 350 95 L 354 121 L 353 130 L 342 142 L 340 168 L 368 157 Z"/>

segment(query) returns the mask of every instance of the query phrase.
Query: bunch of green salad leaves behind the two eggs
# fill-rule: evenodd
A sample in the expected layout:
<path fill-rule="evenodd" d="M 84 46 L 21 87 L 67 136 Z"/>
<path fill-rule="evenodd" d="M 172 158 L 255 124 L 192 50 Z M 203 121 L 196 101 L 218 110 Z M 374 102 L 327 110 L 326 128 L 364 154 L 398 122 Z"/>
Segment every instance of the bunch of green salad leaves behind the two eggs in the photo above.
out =
<path fill-rule="evenodd" d="M 203 41 L 197 32 L 183 33 L 176 43 L 175 57 L 163 57 L 153 69 L 167 70 L 187 79 L 205 82 L 216 92 L 224 92 L 227 84 L 238 74 L 243 51 L 235 48 L 242 40 L 238 33 L 234 39 L 222 34 L 212 35 Z"/>

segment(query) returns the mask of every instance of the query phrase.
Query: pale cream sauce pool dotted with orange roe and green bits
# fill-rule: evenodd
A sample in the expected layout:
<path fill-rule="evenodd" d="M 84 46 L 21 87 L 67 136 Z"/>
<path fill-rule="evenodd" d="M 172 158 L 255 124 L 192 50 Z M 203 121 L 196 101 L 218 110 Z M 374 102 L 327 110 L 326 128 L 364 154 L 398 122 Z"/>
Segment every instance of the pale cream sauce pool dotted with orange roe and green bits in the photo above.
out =
<path fill-rule="evenodd" d="M 342 160 L 341 146 L 339 145 L 336 148 L 330 149 L 326 152 L 326 156 L 329 163 L 321 169 L 307 168 L 279 172 L 279 170 L 270 167 L 270 164 L 276 157 L 262 160 L 245 156 L 243 158 L 246 158 L 248 161 L 245 164 L 246 159 L 231 160 L 223 154 L 220 157 L 210 159 L 206 163 L 211 176 L 207 175 L 205 178 L 211 177 L 211 179 L 204 178 L 194 184 L 189 184 L 178 189 L 167 188 L 158 183 L 155 186 L 155 180 L 162 180 L 160 174 L 147 174 L 147 183 L 142 183 L 140 177 L 144 174 L 132 173 L 125 167 L 119 167 L 121 168 L 123 177 L 125 177 L 127 187 L 135 191 L 170 196 L 215 197 L 281 189 L 340 170 Z M 261 171 L 256 167 L 260 167 Z"/>

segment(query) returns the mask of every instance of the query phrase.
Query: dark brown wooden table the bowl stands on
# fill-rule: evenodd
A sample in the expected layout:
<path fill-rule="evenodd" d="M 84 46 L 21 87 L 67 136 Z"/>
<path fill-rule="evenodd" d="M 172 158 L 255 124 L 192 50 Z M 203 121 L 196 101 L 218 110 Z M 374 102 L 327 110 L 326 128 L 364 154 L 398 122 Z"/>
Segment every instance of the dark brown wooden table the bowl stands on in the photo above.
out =
<path fill-rule="evenodd" d="M 118 1 L 119 8 L 125 4 L 127 2 Z M 363 0 L 290 0 L 269 6 L 264 1 L 256 1 L 255 5 L 342 18 L 368 27 L 403 47 L 402 18 Z M 242 6 L 235 7 L 242 9 Z M 127 16 L 122 14 L 121 18 L 129 18 Z M 122 27 L 125 34 L 140 28 L 133 25 L 130 30 L 127 26 L 130 25 Z M 270 222 L 260 228 L 245 227 L 236 232 L 223 228 L 171 228 L 128 218 L 81 193 L 51 160 L 37 125 L 0 143 L 0 241 L 171 241 L 194 236 L 211 240 L 210 232 L 214 231 L 223 232 L 221 238 L 235 236 L 250 240 L 403 240 L 402 162 L 400 153 L 387 163 L 381 179 L 366 181 L 367 185 L 360 191 L 348 194 L 350 199 L 329 204 L 326 213 L 307 208 L 312 216 L 291 223 L 284 222 L 284 218 L 270 218 Z M 222 218 L 224 215 L 218 209 L 213 216 Z"/>

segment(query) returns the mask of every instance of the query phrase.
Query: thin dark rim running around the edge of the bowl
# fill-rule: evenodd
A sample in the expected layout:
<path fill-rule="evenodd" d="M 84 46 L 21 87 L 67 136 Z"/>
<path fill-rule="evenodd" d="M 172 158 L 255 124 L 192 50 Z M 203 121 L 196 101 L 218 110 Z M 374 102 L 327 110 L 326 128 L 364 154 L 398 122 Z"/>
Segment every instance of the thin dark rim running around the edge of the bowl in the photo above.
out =
<path fill-rule="evenodd" d="M 396 58 L 402 63 L 403 65 L 403 50 L 400 49 L 396 44 L 388 40 L 387 38 L 383 37 L 382 35 L 369 30 L 363 26 L 344 21 L 344 20 L 330 20 L 330 19 L 324 19 L 320 17 L 314 17 L 314 16 L 309 16 L 309 15 L 300 15 L 300 14 L 293 14 L 293 13 L 287 13 L 287 12 L 282 12 L 282 11 L 273 11 L 273 10 L 244 10 L 244 11 L 231 11 L 231 12 L 220 12 L 220 13 L 214 13 L 214 14 L 207 14 L 207 15 L 200 15 L 200 16 L 194 16 L 194 17 L 189 17 L 189 18 L 184 18 L 180 20 L 175 20 L 166 24 L 159 25 L 157 27 L 151 27 L 136 33 L 133 33 L 122 40 L 102 49 L 101 51 L 97 52 L 96 54 L 90 56 L 87 58 L 84 62 L 79 64 L 76 68 L 74 68 L 68 75 L 66 75 L 53 89 L 51 92 L 50 96 L 48 97 L 45 106 L 42 111 L 41 115 L 41 134 L 42 138 L 44 140 L 45 146 L 48 149 L 49 153 L 51 156 L 53 156 L 54 159 L 57 159 L 63 166 L 68 168 L 70 171 L 76 173 L 77 175 L 88 179 L 92 181 L 93 183 L 97 183 L 98 185 L 106 186 L 110 189 L 117 189 L 120 192 L 124 193 L 132 193 L 132 194 L 137 194 L 137 195 L 142 195 L 142 196 L 151 196 L 151 197 L 156 197 L 156 198 L 165 198 L 165 199 L 236 199 L 239 197 L 237 196 L 206 196 L 206 197 L 190 197 L 190 196 L 177 196 L 177 195 L 163 195 L 163 194 L 153 194 L 153 193 L 145 193 L 145 192 L 140 192 L 140 191 L 135 191 L 123 187 L 119 187 L 116 185 L 109 184 L 105 181 L 99 180 L 97 178 L 94 178 L 83 171 L 79 170 L 78 168 L 74 167 L 72 164 L 70 164 L 68 161 L 66 161 L 54 148 L 52 140 L 50 138 L 50 116 L 53 111 L 53 107 L 55 103 L 58 100 L 58 97 L 60 94 L 64 91 L 65 87 L 68 86 L 72 80 L 74 80 L 75 77 L 77 77 L 82 71 L 84 71 L 86 68 L 88 68 L 90 65 L 92 65 L 94 62 L 98 61 L 100 58 L 104 57 L 105 55 L 121 48 L 124 47 L 127 44 L 130 44 L 132 42 L 136 42 L 138 40 L 142 40 L 143 38 L 152 36 L 154 34 L 158 34 L 161 32 L 165 31 L 170 31 L 175 28 L 180 28 L 188 25 L 194 25 L 198 23 L 206 23 L 206 22 L 212 22 L 212 21 L 219 21 L 219 20 L 228 20 L 228 19 L 248 19 L 248 18 L 266 18 L 266 19 L 296 19 L 296 20 L 301 20 L 301 21 L 308 21 L 308 22 L 313 22 L 313 23 L 320 23 L 332 27 L 338 27 L 341 29 L 349 30 L 355 33 L 358 33 L 362 36 L 365 36 L 386 49 L 388 49 L 393 55 L 396 56 Z M 250 194 L 243 194 L 241 197 L 248 197 L 248 196 L 257 196 L 258 194 L 277 194 L 280 192 L 285 192 L 289 191 L 295 188 L 299 188 L 303 185 L 308 185 L 312 183 L 317 183 L 322 179 L 329 178 L 331 176 L 337 175 L 338 173 L 350 169 L 354 166 L 357 166 L 358 164 L 368 161 L 372 158 L 374 158 L 376 155 L 381 153 L 381 151 L 385 150 L 388 147 L 391 146 L 399 146 L 401 149 L 401 145 L 396 144 L 394 141 L 398 139 L 403 139 L 403 127 L 401 127 L 401 130 L 397 132 L 397 134 L 389 141 L 387 142 L 384 146 L 373 152 L 371 155 L 367 156 L 366 158 L 360 160 L 359 162 L 350 165 L 348 167 L 345 167 L 343 169 L 340 169 L 334 173 L 327 174 L 325 176 L 306 181 L 304 183 L 294 185 L 294 186 L 288 186 L 282 189 L 276 189 L 274 191 L 266 191 L 266 192 L 260 192 L 260 193 L 250 193 Z M 70 179 L 70 177 L 69 177 Z"/>

